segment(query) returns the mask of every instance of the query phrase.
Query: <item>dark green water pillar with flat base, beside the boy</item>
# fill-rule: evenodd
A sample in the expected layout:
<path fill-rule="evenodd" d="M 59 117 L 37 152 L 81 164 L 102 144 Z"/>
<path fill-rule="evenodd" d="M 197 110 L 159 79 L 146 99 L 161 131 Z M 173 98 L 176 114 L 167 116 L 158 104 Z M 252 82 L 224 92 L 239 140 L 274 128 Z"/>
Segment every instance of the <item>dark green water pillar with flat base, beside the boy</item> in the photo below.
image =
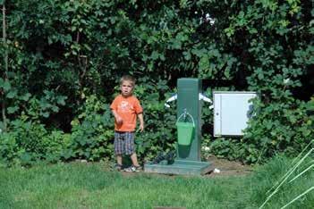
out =
<path fill-rule="evenodd" d="M 180 121 L 181 127 L 178 125 L 178 138 L 176 158 L 173 163 L 146 163 L 144 171 L 169 173 L 169 174 L 191 174 L 201 175 L 211 171 L 210 163 L 200 161 L 200 144 L 201 144 L 201 104 L 199 99 L 201 93 L 201 80 L 200 79 L 178 79 L 177 80 L 177 123 Z M 187 126 L 185 126 L 187 124 Z M 186 129 L 193 126 L 191 138 L 186 141 L 184 134 Z M 186 128 L 185 128 L 186 127 Z M 182 131 L 180 134 L 179 131 Z M 182 140 L 183 139 L 183 140 Z M 182 143 L 183 142 L 183 143 Z"/>

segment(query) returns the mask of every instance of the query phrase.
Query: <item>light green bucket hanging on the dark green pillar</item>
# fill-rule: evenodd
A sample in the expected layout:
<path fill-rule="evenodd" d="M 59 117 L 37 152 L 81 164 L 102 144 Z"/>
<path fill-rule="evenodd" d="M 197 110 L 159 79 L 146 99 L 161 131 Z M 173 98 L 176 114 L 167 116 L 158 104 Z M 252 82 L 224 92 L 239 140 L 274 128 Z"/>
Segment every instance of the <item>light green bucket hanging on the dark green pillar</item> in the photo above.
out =
<path fill-rule="evenodd" d="M 191 121 L 180 121 L 183 115 L 188 115 L 191 117 Z M 182 113 L 175 123 L 178 132 L 178 144 L 182 146 L 191 145 L 191 140 L 194 134 L 195 123 L 193 117 L 189 113 Z"/>

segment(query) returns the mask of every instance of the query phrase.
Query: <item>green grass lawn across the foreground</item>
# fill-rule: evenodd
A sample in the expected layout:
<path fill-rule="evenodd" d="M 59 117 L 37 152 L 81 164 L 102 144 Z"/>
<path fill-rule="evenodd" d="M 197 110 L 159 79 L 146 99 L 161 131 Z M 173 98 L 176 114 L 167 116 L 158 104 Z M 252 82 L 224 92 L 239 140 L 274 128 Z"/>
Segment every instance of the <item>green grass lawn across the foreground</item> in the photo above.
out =
<path fill-rule="evenodd" d="M 60 163 L 0 169 L 0 208 L 258 208 L 266 191 L 289 169 L 277 157 L 244 177 L 123 175 L 105 163 Z M 314 186 L 313 170 L 284 184 L 265 208 L 281 208 Z M 288 208 L 312 208 L 314 191 Z"/>

